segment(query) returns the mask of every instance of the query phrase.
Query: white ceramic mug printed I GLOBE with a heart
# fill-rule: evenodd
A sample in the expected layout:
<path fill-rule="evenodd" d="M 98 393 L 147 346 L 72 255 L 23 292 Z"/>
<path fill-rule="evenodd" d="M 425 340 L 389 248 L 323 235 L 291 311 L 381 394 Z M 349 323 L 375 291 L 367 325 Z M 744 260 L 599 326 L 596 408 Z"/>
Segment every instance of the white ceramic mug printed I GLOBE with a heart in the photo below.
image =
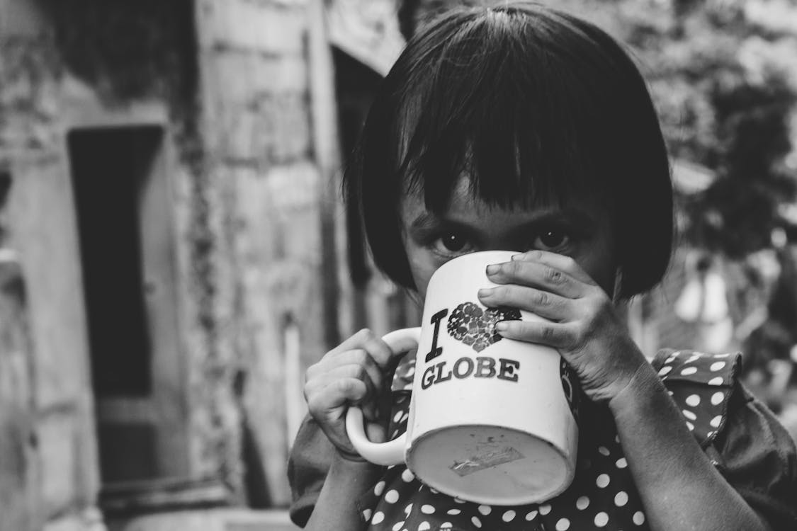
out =
<path fill-rule="evenodd" d="M 556 349 L 502 338 L 498 321 L 541 320 L 481 306 L 485 268 L 516 252 L 474 252 L 434 272 L 422 327 L 383 339 L 396 353 L 418 345 L 406 433 L 371 443 L 363 413 L 348 409 L 355 449 L 380 465 L 406 463 L 426 485 L 469 502 L 544 502 L 570 486 L 578 446 L 575 375 Z"/>

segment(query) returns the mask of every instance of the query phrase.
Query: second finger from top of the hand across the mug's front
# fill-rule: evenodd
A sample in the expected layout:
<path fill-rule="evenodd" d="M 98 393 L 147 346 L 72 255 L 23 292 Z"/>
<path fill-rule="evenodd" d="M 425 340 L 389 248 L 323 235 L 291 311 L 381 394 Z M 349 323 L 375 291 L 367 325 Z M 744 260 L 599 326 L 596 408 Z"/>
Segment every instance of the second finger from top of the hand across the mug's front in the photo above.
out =
<path fill-rule="evenodd" d="M 493 264 L 487 267 L 487 277 L 497 284 L 536 287 L 568 299 L 578 299 L 586 291 L 584 284 L 571 275 L 539 262 L 512 260 Z"/>

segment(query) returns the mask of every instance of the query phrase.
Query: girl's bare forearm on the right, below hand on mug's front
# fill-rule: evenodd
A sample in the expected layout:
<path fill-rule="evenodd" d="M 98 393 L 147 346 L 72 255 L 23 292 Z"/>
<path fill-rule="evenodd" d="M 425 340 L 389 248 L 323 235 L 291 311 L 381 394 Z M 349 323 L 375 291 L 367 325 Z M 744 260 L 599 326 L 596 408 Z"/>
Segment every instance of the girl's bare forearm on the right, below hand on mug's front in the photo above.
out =
<path fill-rule="evenodd" d="M 689 433 L 654 368 L 642 364 L 609 407 L 650 528 L 770 531 Z"/>

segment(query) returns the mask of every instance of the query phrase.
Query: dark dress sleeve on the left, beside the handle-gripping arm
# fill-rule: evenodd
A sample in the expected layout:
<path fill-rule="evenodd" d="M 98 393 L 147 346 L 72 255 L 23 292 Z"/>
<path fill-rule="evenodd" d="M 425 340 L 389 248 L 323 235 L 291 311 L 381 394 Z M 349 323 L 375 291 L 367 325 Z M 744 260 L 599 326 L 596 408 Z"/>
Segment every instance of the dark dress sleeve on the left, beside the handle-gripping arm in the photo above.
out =
<path fill-rule="evenodd" d="M 316 506 L 332 455 L 332 443 L 311 416 L 304 417 L 288 459 L 288 481 L 291 486 L 290 515 L 299 527 L 307 525 Z"/>

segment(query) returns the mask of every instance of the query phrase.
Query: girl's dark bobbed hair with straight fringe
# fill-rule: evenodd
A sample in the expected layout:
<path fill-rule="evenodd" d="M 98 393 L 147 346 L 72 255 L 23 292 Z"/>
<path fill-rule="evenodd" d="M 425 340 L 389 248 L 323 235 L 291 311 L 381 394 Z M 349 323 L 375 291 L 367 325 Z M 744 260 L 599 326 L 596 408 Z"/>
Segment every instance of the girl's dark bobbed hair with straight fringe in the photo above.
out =
<path fill-rule="evenodd" d="M 414 288 L 402 193 L 422 192 L 439 213 L 463 172 L 493 205 L 603 197 L 614 216 L 620 295 L 662 279 L 673 240 L 664 139 L 638 69 L 595 25 L 509 2 L 451 10 L 410 39 L 344 174 L 349 221 L 396 283 Z"/>

